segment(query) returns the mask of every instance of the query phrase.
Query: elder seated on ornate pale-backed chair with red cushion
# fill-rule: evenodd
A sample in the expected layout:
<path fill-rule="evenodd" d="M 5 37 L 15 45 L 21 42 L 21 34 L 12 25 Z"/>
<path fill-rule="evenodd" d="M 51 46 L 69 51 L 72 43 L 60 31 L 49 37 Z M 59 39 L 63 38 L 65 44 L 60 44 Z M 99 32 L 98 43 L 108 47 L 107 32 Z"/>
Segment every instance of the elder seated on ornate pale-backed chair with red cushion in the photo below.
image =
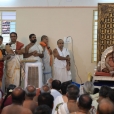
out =
<path fill-rule="evenodd" d="M 108 47 L 98 62 L 95 76 L 114 76 L 114 46 Z"/>

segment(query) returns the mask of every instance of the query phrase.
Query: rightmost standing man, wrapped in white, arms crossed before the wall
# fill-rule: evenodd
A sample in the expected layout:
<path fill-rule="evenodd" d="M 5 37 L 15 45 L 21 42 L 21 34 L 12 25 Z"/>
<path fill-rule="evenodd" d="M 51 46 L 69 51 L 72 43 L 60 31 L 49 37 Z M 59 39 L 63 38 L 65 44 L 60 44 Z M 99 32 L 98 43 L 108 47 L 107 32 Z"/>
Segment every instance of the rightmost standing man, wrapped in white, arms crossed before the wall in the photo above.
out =
<path fill-rule="evenodd" d="M 58 47 L 54 49 L 54 79 L 66 82 L 71 80 L 70 58 L 68 49 L 64 48 L 64 41 L 57 41 Z"/>

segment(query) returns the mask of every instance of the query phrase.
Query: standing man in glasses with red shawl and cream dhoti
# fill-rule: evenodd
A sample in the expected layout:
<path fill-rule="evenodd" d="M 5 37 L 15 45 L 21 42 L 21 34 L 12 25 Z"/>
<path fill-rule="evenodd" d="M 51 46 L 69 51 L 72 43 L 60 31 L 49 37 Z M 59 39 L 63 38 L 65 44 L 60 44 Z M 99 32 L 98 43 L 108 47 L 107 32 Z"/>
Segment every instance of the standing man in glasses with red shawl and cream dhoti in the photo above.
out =
<path fill-rule="evenodd" d="M 10 58 L 6 61 L 6 86 L 9 84 L 14 84 L 19 86 L 20 79 L 20 56 L 22 53 L 21 49 L 24 44 L 17 41 L 17 33 L 10 33 L 11 49 L 14 51 L 14 55 L 10 56 Z M 7 51 L 7 50 L 6 50 Z"/>

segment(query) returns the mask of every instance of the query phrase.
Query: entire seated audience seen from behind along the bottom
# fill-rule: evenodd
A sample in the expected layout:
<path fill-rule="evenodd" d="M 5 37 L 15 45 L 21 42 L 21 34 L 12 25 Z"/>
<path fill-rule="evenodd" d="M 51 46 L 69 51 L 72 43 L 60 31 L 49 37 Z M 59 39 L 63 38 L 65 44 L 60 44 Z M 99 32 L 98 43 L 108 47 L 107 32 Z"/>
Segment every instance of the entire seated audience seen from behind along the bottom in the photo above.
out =
<path fill-rule="evenodd" d="M 94 88 L 89 81 L 78 87 L 52 78 L 41 88 L 28 85 L 23 89 L 10 84 L 0 99 L 0 113 L 114 114 L 114 89 L 105 85 Z"/>

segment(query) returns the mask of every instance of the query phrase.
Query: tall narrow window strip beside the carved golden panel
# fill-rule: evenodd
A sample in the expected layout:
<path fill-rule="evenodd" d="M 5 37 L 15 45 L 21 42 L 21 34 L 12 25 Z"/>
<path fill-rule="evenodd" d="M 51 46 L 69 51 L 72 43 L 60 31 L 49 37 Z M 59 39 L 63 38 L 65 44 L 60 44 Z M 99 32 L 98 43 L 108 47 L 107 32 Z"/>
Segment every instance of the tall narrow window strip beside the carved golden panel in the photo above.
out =
<path fill-rule="evenodd" d="M 98 27 L 98 11 L 93 11 L 93 34 L 92 34 L 92 62 L 97 61 L 97 27 Z"/>

